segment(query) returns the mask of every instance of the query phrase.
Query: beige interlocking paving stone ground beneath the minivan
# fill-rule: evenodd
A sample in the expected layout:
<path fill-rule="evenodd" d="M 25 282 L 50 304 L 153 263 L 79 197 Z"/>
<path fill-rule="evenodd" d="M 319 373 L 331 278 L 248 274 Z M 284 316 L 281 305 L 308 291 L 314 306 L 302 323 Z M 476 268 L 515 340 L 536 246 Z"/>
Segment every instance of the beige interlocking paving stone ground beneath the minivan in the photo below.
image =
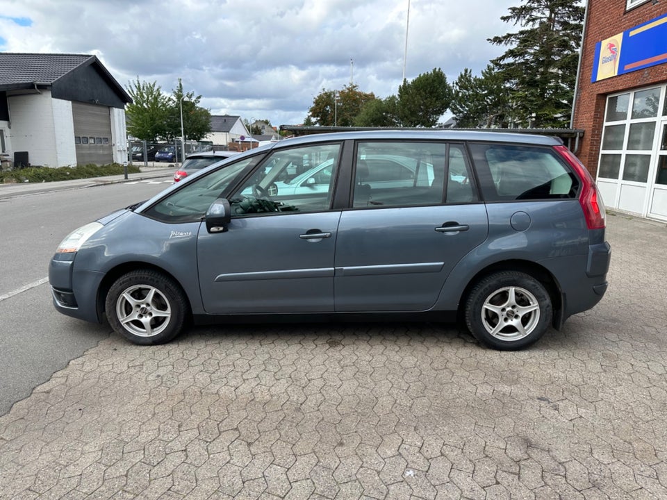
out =
<path fill-rule="evenodd" d="M 526 351 L 424 324 L 112 335 L 0 417 L 0 499 L 667 499 L 667 228 L 607 231 L 607 296 Z"/>

